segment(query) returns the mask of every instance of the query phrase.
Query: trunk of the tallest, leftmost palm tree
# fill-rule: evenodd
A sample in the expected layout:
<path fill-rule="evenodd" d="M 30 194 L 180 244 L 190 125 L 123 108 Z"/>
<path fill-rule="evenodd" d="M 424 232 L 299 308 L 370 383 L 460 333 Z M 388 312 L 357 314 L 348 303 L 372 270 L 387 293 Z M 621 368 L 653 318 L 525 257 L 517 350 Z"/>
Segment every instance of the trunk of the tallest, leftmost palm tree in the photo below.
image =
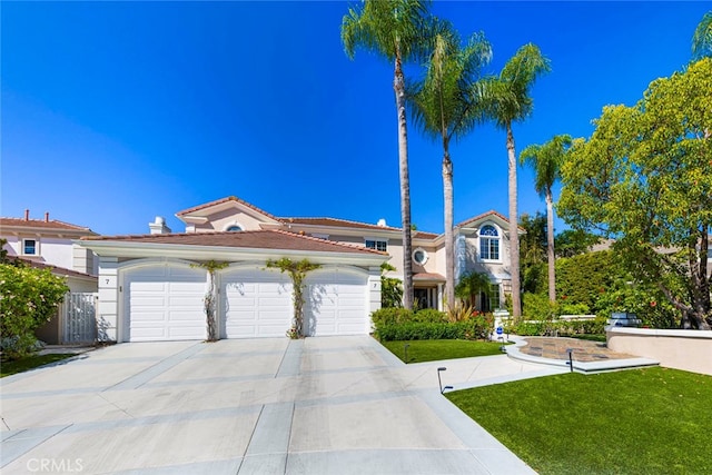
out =
<path fill-rule="evenodd" d="M 403 306 L 413 309 L 413 251 L 411 244 L 411 179 L 408 177 L 408 129 L 405 115 L 405 78 L 400 55 L 396 53 L 393 89 L 398 113 L 398 170 L 400 175 L 400 218 L 403 221 Z"/>

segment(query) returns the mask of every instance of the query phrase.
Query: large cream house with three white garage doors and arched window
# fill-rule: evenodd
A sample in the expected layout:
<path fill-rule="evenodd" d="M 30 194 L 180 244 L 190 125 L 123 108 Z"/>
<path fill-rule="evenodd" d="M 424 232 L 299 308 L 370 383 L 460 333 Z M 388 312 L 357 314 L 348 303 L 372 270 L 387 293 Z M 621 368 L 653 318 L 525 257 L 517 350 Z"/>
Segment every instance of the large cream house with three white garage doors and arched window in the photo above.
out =
<path fill-rule="evenodd" d="M 291 321 L 291 284 L 267 268 L 268 259 L 308 259 L 322 268 L 307 276 L 306 328 L 313 336 L 370 331 L 380 307 L 380 265 L 402 277 L 400 229 L 336 218 L 280 218 L 235 197 L 176 214 L 185 232 L 171 232 L 162 218 L 149 235 L 95 236 L 78 244 L 99 256 L 99 326 L 117 342 L 206 337 L 204 296 L 209 260 L 229 264 L 217 271 L 220 337 L 284 336 Z M 522 230 L 520 230 L 522 232 Z M 457 225 L 458 273 L 490 275 L 494 309 L 511 289 L 507 219 L 490 211 Z M 444 236 L 413 232 L 414 284 L 422 307 L 442 308 Z"/>

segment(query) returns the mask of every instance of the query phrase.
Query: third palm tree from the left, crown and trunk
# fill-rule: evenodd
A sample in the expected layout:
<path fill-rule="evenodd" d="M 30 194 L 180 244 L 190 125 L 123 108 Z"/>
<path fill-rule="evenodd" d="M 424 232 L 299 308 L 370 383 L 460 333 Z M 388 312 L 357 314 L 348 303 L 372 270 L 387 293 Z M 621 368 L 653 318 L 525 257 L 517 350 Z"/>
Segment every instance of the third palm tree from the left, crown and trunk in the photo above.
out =
<path fill-rule="evenodd" d="M 517 234 L 516 152 L 512 122 L 526 119 L 534 107 L 530 91 L 536 78 L 550 70 L 548 59 L 532 43 L 520 48 L 498 77 L 487 81 L 490 113 L 497 127 L 506 130 L 510 175 L 510 265 L 512 268 L 512 315 L 522 315 L 520 281 L 520 236 Z"/>

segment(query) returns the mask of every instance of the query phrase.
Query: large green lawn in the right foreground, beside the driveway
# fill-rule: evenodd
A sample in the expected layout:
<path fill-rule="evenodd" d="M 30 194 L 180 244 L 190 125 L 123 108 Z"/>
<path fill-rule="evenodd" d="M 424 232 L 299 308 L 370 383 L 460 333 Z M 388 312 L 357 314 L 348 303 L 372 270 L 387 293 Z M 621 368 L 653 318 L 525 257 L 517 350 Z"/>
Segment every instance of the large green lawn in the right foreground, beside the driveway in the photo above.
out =
<path fill-rule="evenodd" d="M 446 396 L 541 474 L 712 473 L 712 376 L 570 373 Z"/>

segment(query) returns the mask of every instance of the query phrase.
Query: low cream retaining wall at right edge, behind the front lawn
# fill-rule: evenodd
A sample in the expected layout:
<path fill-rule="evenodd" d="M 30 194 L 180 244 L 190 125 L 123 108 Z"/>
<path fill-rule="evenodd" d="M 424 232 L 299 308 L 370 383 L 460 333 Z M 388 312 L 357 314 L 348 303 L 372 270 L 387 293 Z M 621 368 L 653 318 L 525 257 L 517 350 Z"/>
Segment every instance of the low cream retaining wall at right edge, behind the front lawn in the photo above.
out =
<path fill-rule="evenodd" d="M 661 366 L 712 375 L 712 331 L 605 328 L 613 352 L 657 359 Z"/>

